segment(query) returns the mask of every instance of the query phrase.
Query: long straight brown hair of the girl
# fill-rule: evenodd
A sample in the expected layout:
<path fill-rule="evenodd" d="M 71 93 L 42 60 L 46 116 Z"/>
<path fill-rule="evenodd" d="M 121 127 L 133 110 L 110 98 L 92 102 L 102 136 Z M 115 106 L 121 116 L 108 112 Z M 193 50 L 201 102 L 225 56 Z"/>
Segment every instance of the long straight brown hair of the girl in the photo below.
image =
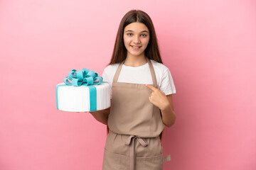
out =
<path fill-rule="evenodd" d="M 154 25 L 151 18 L 144 11 L 131 10 L 124 15 L 119 24 L 110 64 L 119 63 L 126 59 L 127 49 L 124 46 L 124 28 L 130 23 L 135 22 L 144 23 L 144 25 L 149 29 L 149 44 L 145 49 L 145 56 L 151 60 L 155 60 L 156 62 L 163 63 L 156 39 L 156 32 L 154 30 Z"/>

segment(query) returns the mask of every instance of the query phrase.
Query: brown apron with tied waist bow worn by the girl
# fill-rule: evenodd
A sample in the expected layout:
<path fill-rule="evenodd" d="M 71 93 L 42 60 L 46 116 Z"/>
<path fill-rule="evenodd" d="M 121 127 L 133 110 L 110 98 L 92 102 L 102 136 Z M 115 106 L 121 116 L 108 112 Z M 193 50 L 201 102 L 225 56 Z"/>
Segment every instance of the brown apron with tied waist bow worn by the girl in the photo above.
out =
<path fill-rule="evenodd" d="M 156 74 L 151 61 L 149 69 L 156 84 Z M 103 158 L 103 170 L 161 170 L 170 155 L 163 158 L 163 147 L 159 138 L 164 123 L 158 107 L 149 101 L 151 89 L 145 84 L 117 82 L 122 69 L 121 62 L 112 83 L 112 103 Z"/>

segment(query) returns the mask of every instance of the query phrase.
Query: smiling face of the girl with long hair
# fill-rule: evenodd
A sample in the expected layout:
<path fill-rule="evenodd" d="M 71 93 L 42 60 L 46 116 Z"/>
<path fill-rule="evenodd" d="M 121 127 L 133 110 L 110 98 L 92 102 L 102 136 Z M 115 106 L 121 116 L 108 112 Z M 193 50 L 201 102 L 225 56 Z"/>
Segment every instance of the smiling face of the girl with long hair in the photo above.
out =
<path fill-rule="evenodd" d="M 144 50 L 149 44 L 149 29 L 144 23 L 130 23 L 124 28 L 124 45 L 127 56 L 144 56 Z"/>

